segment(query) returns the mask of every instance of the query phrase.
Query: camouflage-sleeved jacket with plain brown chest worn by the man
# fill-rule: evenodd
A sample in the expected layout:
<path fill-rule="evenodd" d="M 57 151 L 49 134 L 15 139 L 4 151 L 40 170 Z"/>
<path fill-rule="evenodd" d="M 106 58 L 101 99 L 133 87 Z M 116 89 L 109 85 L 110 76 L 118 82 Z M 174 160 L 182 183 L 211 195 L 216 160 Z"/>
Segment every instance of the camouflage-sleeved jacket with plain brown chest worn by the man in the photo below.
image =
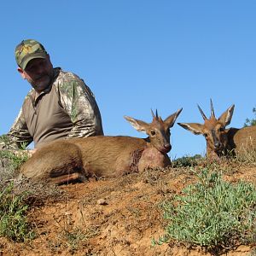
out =
<path fill-rule="evenodd" d="M 35 148 L 62 137 L 103 135 L 102 118 L 90 88 L 73 73 L 55 68 L 55 78 L 39 95 L 26 96 L 15 123 L 0 137 L 0 148 Z"/>

